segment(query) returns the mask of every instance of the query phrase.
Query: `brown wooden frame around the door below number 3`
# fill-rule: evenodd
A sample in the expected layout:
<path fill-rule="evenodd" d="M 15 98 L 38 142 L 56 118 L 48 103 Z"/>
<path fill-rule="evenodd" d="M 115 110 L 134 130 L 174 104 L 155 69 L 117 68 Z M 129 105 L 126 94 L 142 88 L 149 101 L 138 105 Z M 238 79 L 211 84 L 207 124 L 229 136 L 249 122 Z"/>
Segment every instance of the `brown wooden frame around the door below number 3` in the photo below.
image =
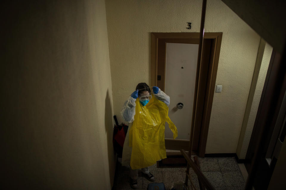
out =
<path fill-rule="evenodd" d="M 203 106 L 203 118 L 201 121 L 201 132 L 200 140 L 198 146 L 198 156 L 204 157 L 206 151 L 206 141 L 209 131 L 209 121 L 212 110 L 212 102 L 215 91 L 215 81 L 217 76 L 217 66 L 220 56 L 220 46 L 222 40 L 222 32 L 206 32 L 204 33 L 204 39 L 213 39 L 214 48 L 211 54 L 209 62 L 209 72 L 207 77 L 206 93 Z M 158 73 L 158 40 L 159 39 L 199 39 L 199 32 L 179 32 L 179 33 L 151 33 L 151 86 L 157 85 L 157 73 Z M 165 60 L 166 64 L 166 60 Z M 200 82 L 199 79 L 196 79 L 196 86 Z M 198 89 L 195 89 L 197 91 Z M 196 105 L 194 103 L 194 105 Z M 193 112 L 193 114 L 195 114 Z M 192 118 L 197 117 L 198 115 L 192 115 Z"/>

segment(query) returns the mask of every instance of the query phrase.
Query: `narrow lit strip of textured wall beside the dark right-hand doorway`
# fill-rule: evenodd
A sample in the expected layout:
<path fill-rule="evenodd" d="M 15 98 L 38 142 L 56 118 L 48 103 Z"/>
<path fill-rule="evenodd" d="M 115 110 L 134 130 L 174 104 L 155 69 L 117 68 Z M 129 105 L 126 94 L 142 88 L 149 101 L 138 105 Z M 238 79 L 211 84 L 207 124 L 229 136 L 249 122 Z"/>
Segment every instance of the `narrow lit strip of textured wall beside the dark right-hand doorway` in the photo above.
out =
<path fill-rule="evenodd" d="M 262 51 L 257 55 L 257 63 L 254 72 L 254 76 L 252 79 L 250 95 L 252 97 L 248 98 L 247 108 L 245 111 L 245 118 L 242 126 L 242 130 L 240 132 L 240 139 L 237 146 L 237 156 L 239 159 L 245 159 L 246 152 L 248 149 L 248 144 L 251 138 L 252 129 L 254 126 L 254 122 L 256 119 L 257 109 L 259 106 L 260 98 L 262 89 L 265 83 L 265 77 L 268 70 L 271 54 L 272 54 L 272 47 L 265 40 L 261 39 L 260 45 L 262 45 Z M 260 46 L 259 46 L 260 49 Z M 259 68 L 257 68 L 259 67 Z"/>

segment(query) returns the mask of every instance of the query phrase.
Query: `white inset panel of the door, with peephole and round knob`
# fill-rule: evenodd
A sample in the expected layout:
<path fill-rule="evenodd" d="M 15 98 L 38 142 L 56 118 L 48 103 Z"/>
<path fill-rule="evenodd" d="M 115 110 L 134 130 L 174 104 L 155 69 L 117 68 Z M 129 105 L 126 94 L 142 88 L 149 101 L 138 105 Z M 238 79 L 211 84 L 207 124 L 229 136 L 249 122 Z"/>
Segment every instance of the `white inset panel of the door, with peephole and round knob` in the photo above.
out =
<path fill-rule="evenodd" d="M 167 43 L 165 93 L 170 96 L 169 117 L 178 129 L 176 139 L 189 140 L 195 94 L 198 44 Z M 184 104 L 182 109 L 177 104 Z M 166 123 L 165 138 L 173 133 Z"/>

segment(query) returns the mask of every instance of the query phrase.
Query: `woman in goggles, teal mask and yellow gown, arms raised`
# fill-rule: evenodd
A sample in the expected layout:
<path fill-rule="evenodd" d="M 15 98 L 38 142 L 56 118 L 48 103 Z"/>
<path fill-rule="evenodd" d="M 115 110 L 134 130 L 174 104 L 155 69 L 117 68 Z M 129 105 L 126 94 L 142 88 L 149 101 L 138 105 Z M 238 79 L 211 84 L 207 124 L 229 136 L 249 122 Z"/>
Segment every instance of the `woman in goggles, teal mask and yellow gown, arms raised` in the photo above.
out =
<path fill-rule="evenodd" d="M 152 100 L 152 98 L 154 98 L 154 99 Z M 170 104 L 170 97 L 167 96 L 158 87 L 156 87 L 156 86 L 153 87 L 153 96 L 152 96 L 151 95 L 151 91 L 150 91 L 150 87 L 146 83 L 139 83 L 136 86 L 136 91 L 134 91 L 129 96 L 128 100 L 125 102 L 124 108 L 122 109 L 122 117 L 123 117 L 123 119 L 126 122 L 130 123 L 129 124 L 129 128 L 128 128 L 128 132 L 127 132 L 127 135 L 126 135 L 126 138 L 125 138 L 124 146 L 123 146 L 122 165 L 123 166 L 129 166 L 129 165 L 131 166 L 131 168 L 130 168 L 130 178 L 131 178 L 130 185 L 131 185 L 131 187 L 133 189 L 136 189 L 136 187 L 137 187 L 138 167 L 136 168 L 136 166 L 134 164 L 132 164 L 132 161 L 136 162 L 138 159 L 140 159 L 141 157 L 144 157 L 144 156 L 146 156 L 146 154 L 148 154 L 148 152 L 146 153 L 146 152 L 142 152 L 142 151 L 140 152 L 140 150 L 139 151 L 136 150 L 137 151 L 136 152 L 137 157 L 133 155 L 133 154 L 135 154 L 134 150 L 136 148 L 136 147 L 134 147 L 134 144 L 133 144 L 133 153 L 132 153 L 132 147 L 131 146 L 132 146 L 132 139 L 134 140 L 133 133 L 134 133 L 134 130 L 136 130 L 137 128 L 140 128 L 140 127 L 138 127 L 139 122 L 144 127 L 147 126 L 147 124 L 146 125 L 144 124 L 144 122 L 146 122 L 145 120 L 151 119 L 152 122 L 155 121 L 155 123 L 156 123 L 156 119 L 158 120 L 157 115 L 158 115 L 158 117 L 160 117 L 162 110 L 160 110 L 160 111 L 159 110 L 155 110 L 155 112 L 154 112 L 154 109 L 160 109 L 160 106 L 161 106 L 161 107 L 165 107 L 165 110 L 168 112 L 168 108 L 166 108 L 167 106 L 164 105 L 164 104 L 162 106 L 162 103 L 160 103 L 158 100 L 161 101 L 161 102 L 164 102 L 167 106 L 169 106 L 169 104 Z M 152 105 L 150 105 L 150 104 L 153 104 L 154 106 L 152 107 Z M 153 115 L 151 114 L 151 116 L 150 115 L 146 116 L 144 114 L 141 114 L 140 115 L 141 118 L 139 119 L 139 117 L 138 117 L 139 116 L 139 112 L 141 113 L 141 111 L 138 111 L 139 109 L 141 111 L 142 111 L 142 109 L 143 109 L 143 111 L 145 110 L 146 113 L 148 113 L 148 114 L 149 114 L 149 111 L 150 111 L 150 113 L 151 112 L 152 113 L 156 113 L 156 111 L 158 113 L 157 114 L 153 114 Z M 164 110 L 163 110 L 163 112 L 164 112 Z M 166 115 L 166 113 L 165 113 L 165 115 Z M 135 114 L 138 114 L 138 115 L 136 115 L 135 121 L 134 121 Z M 148 118 L 144 118 L 144 117 L 148 117 Z M 168 116 L 167 116 L 167 118 L 170 120 L 170 118 Z M 140 120 L 140 121 L 138 121 L 138 120 Z M 166 120 L 166 121 L 169 123 L 169 120 L 168 121 Z M 165 124 L 165 122 L 162 122 L 162 123 Z M 132 128 L 133 124 L 136 125 L 136 126 L 133 126 L 133 128 Z M 162 125 L 162 124 L 158 123 L 158 125 Z M 154 124 L 154 126 L 157 126 L 157 124 Z M 173 126 L 175 128 L 175 125 L 173 125 Z M 143 127 L 141 127 L 141 130 L 145 131 L 145 128 L 144 129 L 142 129 L 142 128 Z M 174 129 L 174 128 L 171 129 L 171 127 L 170 127 L 170 129 L 173 131 L 174 136 L 175 136 L 175 133 L 177 134 L 177 129 L 176 128 Z M 131 132 L 130 132 L 130 129 L 131 129 Z M 149 132 L 150 131 L 152 131 L 152 130 L 149 130 Z M 161 139 L 162 139 L 162 137 L 164 137 L 164 129 L 159 129 L 158 130 L 158 128 L 157 128 L 156 130 L 153 130 L 153 131 L 154 132 L 152 132 L 152 133 L 156 133 L 156 132 L 160 133 L 161 134 Z M 131 136 L 131 135 L 132 135 L 132 137 L 130 137 L 130 139 L 129 139 L 129 136 Z M 150 135 L 150 133 L 148 134 L 148 136 L 152 136 L 152 135 L 153 134 Z M 157 135 L 157 134 L 155 134 L 155 135 Z M 139 134 L 137 133 L 137 136 L 136 136 L 135 140 L 138 140 L 138 139 L 140 140 L 140 138 L 144 138 L 144 140 L 146 140 L 145 137 L 140 136 L 140 133 Z M 163 138 L 163 140 L 164 140 L 164 138 Z M 129 145 L 129 143 L 130 143 L 130 145 Z M 140 141 L 139 141 L 139 143 L 140 143 Z M 153 145 L 154 145 L 154 143 L 153 143 Z M 154 145 L 154 147 L 152 147 L 152 146 L 151 147 L 149 146 L 150 152 L 152 152 L 152 151 L 155 151 L 156 153 L 160 152 L 160 151 L 157 151 L 158 147 L 156 147 L 156 144 Z M 162 149 L 162 145 L 160 146 L 160 148 Z M 166 151 L 165 151 L 165 155 L 166 155 Z M 150 155 L 150 157 L 152 157 L 152 159 L 158 159 L 159 160 L 159 159 L 165 158 L 166 157 L 165 155 L 163 153 L 163 154 L 158 154 L 156 156 Z M 133 156 L 133 158 L 132 158 L 132 156 Z M 144 177 L 146 177 L 149 181 L 154 181 L 154 176 L 149 172 L 149 166 L 153 165 L 154 164 L 153 162 L 154 162 L 154 160 L 152 162 L 144 163 L 145 165 L 147 165 L 147 167 L 141 168 L 141 171 L 142 171 Z M 148 164 L 151 164 L 151 165 L 148 165 Z M 141 166 L 142 166 L 142 164 L 141 164 Z"/>

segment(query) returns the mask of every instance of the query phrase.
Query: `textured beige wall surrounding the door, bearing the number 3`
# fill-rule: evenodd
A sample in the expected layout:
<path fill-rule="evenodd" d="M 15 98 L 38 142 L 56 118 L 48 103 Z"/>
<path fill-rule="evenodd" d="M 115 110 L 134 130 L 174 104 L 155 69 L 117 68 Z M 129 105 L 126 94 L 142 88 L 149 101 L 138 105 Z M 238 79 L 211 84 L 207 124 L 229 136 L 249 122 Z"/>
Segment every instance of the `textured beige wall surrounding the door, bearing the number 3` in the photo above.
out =
<path fill-rule="evenodd" d="M 202 1 L 105 3 L 114 114 L 120 115 L 137 83 L 150 83 L 150 33 L 199 32 Z M 223 91 L 214 95 L 206 153 L 235 153 L 260 37 L 219 0 L 207 2 L 205 32 L 223 32 L 216 81 Z"/>

